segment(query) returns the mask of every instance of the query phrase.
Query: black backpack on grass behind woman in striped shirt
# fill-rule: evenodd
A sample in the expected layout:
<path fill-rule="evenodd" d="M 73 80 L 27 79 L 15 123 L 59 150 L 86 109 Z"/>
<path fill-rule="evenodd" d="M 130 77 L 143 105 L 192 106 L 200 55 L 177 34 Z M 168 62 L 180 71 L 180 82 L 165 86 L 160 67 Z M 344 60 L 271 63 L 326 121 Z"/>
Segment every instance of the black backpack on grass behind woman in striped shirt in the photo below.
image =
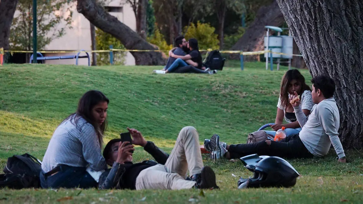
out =
<path fill-rule="evenodd" d="M 40 188 L 40 161 L 30 154 L 8 158 L 4 173 L 0 175 L 0 188 Z"/>

